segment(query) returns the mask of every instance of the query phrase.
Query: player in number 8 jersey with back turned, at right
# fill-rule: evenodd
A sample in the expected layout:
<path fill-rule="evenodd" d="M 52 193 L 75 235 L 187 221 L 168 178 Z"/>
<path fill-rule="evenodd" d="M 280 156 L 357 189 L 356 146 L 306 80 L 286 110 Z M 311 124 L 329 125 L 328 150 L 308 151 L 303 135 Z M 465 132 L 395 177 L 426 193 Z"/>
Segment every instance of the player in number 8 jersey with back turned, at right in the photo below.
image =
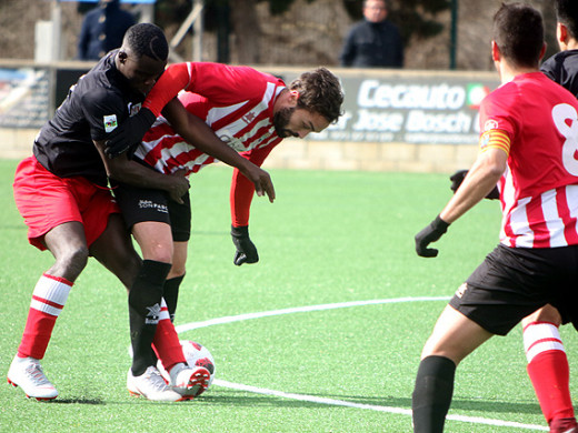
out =
<path fill-rule="evenodd" d="M 448 226 L 499 182 L 500 244 L 467 279 L 428 339 L 412 397 L 415 432 L 441 432 L 459 362 L 494 334 L 507 334 L 550 303 L 578 320 L 578 103 L 538 71 L 544 56 L 538 11 L 502 4 L 491 53 L 502 85 L 480 107 L 480 152 L 440 214 L 416 235 L 421 256 Z M 576 422 L 550 424 L 574 432 Z"/>

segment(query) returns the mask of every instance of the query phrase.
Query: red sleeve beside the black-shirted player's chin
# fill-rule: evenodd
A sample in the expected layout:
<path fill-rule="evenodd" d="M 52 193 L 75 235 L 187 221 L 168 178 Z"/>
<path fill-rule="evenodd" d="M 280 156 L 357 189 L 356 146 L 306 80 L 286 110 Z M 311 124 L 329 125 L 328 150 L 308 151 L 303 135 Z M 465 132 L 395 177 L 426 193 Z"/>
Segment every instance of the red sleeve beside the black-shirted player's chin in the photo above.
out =
<path fill-rule="evenodd" d="M 158 118 L 165 105 L 177 97 L 181 90 L 186 90 L 189 87 L 191 64 L 175 63 L 169 66 L 159 78 L 159 81 L 155 83 L 142 107 L 152 111 L 155 117 Z"/>

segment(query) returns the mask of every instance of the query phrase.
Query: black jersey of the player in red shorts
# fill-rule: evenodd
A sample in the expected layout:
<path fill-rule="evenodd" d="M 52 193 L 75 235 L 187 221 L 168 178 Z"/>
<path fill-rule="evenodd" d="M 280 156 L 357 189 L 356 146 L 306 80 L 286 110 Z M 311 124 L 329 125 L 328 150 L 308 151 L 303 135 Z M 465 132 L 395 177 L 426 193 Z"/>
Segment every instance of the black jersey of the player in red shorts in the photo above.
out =
<path fill-rule="evenodd" d="M 104 140 L 144 100 L 117 69 L 117 52 L 104 56 L 70 88 L 34 141 L 34 157 L 60 178 L 81 175 L 107 185 L 104 164 L 92 140 Z"/>

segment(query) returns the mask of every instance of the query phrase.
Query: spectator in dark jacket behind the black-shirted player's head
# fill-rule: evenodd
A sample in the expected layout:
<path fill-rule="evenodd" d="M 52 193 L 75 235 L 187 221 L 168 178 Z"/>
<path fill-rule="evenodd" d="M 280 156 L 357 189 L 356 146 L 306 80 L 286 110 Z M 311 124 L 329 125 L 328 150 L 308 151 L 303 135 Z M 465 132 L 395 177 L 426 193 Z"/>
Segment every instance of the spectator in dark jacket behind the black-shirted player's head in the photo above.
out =
<path fill-rule="evenodd" d="M 120 9 L 120 0 L 100 0 L 97 8 L 90 10 L 80 29 L 78 58 L 99 60 L 107 52 L 122 44 L 122 37 L 134 24 L 134 17 Z"/>

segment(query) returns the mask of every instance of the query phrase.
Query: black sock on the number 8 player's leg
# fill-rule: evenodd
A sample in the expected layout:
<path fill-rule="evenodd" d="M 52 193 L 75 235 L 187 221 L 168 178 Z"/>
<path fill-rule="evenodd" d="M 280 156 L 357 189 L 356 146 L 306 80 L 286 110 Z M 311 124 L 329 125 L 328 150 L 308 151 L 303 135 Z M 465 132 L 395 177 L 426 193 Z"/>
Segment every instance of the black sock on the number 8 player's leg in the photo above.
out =
<path fill-rule="evenodd" d="M 454 394 L 456 364 L 445 356 L 427 356 L 418 369 L 411 410 L 415 433 L 441 433 Z"/>

